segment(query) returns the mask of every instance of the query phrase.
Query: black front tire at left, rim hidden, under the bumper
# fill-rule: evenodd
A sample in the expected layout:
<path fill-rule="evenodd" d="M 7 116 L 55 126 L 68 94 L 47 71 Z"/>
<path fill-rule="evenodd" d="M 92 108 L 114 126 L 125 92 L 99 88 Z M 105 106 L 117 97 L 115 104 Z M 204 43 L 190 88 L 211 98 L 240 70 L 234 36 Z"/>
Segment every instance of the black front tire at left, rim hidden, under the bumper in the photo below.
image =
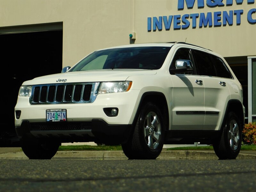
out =
<path fill-rule="evenodd" d="M 60 142 L 22 142 L 21 148 L 29 159 L 51 159 L 58 151 Z"/>

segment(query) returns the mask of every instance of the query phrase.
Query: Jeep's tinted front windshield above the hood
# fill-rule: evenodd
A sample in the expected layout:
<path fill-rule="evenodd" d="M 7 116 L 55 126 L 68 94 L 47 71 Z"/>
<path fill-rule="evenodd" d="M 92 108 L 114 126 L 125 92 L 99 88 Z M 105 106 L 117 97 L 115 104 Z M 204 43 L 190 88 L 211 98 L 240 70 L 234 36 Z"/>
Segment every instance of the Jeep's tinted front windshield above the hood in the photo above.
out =
<path fill-rule="evenodd" d="M 95 69 L 159 69 L 171 47 L 130 47 L 95 51 L 71 71 Z"/>

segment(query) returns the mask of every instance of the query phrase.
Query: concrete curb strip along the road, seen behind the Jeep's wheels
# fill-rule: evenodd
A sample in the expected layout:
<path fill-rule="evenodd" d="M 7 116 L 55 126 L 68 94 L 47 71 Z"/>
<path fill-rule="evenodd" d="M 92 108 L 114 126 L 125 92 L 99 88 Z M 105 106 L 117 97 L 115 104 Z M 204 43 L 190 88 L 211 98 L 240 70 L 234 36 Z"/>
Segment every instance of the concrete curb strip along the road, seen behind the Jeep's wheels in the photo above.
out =
<path fill-rule="evenodd" d="M 128 159 L 123 151 L 58 151 L 52 159 Z M 0 159 L 28 159 L 21 148 L 0 148 Z M 163 149 L 157 159 L 201 159 L 218 160 L 213 150 L 209 151 L 167 151 Z M 236 159 L 255 159 L 256 151 L 240 151 Z"/>

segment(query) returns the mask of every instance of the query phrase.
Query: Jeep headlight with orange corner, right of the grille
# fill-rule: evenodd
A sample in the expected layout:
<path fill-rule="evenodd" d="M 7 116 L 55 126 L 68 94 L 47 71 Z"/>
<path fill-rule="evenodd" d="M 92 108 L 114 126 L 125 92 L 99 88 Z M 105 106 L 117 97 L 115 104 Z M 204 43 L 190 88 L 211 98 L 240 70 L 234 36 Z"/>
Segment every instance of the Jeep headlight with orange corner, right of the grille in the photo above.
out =
<path fill-rule="evenodd" d="M 131 86 L 131 81 L 102 82 L 100 85 L 99 94 L 126 92 L 130 90 Z"/>

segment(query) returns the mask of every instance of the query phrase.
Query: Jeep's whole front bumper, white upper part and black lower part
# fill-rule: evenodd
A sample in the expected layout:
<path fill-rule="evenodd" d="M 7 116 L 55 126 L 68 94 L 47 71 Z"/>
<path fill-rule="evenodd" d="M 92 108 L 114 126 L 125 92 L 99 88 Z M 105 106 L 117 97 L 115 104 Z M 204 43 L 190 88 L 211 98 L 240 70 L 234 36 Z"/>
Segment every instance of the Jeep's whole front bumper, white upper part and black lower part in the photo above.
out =
<path fill-rule="evenodd" d="M 124 143 L 133 132 L 133 120 L 141 92 L 99 94 L 92 103 L 30 105 L 29 98 L 18 97 L 15 129 L 19 138 L 54 139 L 60 142 Z M 104 108 L 118 108 L 108 116 Z M 46 110 L 66 109 L 65 122 L 46 122 Z M 20 111 L 20 117 L 16 111 Z"/>

